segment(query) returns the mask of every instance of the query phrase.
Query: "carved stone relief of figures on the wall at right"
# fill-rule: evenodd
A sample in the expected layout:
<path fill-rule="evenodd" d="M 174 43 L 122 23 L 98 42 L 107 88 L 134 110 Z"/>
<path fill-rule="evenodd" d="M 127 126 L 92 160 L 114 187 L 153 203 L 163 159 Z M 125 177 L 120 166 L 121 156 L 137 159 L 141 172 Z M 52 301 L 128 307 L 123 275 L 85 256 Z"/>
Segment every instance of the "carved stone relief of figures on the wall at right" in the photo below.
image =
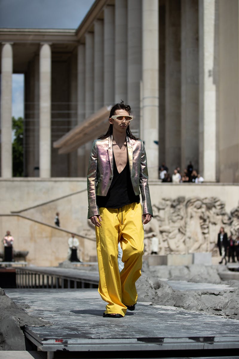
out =
<path fill-rule="evenodd" d="M 233 237 L 239 236 L 239 205 L 226 213 L 225 203 L 217 197 L 164 198 L 153 205 L 154 217 L 145 228 L 145 254 L 149 254 L 150 233 L 159 238 L 160 255 L 211 252 L 216 246 L 219 228 Z"/>

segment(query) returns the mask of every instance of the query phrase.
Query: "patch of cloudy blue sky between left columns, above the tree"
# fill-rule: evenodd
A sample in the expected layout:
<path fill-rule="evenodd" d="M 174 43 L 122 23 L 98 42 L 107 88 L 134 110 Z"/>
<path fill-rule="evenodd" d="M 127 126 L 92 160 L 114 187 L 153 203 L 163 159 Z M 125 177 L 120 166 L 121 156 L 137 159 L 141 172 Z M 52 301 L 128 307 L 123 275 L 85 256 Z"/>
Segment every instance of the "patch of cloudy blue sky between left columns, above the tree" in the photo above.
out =
<path fill-rule="evenodd" d="M 12 116 L 24 117 L 24 75 L 12 76 Z"/>

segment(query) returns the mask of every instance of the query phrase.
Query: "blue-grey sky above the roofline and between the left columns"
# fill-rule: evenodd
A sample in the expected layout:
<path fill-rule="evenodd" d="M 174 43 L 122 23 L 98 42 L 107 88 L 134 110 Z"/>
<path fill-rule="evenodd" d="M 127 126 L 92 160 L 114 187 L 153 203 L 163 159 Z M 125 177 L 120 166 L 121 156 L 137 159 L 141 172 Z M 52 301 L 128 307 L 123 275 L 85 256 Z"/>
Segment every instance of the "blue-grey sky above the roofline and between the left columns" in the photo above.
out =
<path fill-rule="evenodd" d="M 76 29 L 94 0 L 0 0 L 0 28 Z M 12 116 L 23 117 L 24 76 L 13 74 Z"/>

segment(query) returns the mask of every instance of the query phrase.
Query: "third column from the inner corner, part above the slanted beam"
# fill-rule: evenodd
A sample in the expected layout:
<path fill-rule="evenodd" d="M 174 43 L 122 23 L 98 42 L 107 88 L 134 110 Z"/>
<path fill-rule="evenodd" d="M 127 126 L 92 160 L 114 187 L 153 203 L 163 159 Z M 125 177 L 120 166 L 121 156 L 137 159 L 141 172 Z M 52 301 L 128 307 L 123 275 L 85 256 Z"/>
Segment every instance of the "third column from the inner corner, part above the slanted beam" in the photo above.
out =
<path fill-rule="evenodd" d="M 104 22 L 94 22 L 94 111 L 104 106 Z"/>

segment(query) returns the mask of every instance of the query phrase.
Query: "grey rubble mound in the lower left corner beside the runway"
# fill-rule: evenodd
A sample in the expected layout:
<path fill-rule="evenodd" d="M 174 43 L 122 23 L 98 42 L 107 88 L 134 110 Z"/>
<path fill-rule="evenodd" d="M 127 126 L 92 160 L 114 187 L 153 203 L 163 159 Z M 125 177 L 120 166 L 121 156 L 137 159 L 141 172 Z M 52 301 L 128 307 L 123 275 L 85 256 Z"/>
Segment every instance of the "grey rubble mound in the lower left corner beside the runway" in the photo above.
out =
<path fill-rule="evenodd" d="M 29 316 L 24 308 L 16 306 L 0 288 L 0 350 L 26 350 L 24 326 L 49 325 L 48 322 Z"/>

